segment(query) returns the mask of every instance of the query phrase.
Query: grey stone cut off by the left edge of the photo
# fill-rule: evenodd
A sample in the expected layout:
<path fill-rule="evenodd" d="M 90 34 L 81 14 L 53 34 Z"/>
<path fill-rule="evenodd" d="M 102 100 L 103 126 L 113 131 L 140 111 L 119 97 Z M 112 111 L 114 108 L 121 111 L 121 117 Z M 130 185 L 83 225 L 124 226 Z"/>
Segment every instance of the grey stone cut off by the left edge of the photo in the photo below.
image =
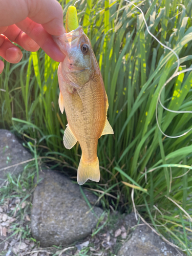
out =
<path fill-rule="evenodd" d="M 14 166 L 6 170 L 2 170 L 3 168 L 31 158 L 31 154 L 18 142 L 14 134 L 8 130 L 0 129 L 0 186 L 7 178 L 6 174 L 14 172 L 13 175 L 17 175 L 23 171 L 26 164 Z"/>

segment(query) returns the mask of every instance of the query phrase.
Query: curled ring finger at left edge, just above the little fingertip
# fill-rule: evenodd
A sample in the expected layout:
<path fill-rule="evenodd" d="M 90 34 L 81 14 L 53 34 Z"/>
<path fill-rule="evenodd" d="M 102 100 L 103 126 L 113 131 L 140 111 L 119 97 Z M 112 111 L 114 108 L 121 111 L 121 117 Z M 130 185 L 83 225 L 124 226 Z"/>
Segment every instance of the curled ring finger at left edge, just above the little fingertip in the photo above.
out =
<path fill-rule="evenodd" d="M 0 56 L 10 63 L 18 63 L 23 54 L 6 36 L 0 35 Z"/>

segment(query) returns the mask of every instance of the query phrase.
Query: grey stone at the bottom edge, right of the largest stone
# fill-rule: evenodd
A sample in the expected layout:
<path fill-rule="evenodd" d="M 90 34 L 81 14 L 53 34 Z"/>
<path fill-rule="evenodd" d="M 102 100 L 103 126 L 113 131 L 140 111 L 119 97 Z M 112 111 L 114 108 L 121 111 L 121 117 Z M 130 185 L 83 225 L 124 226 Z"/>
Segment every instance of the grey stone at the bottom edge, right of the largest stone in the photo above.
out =
<path fill-rule="evenodd" d="M 135 226 L 134 214 L 125 217 L 125 223 Z M 140 222 L 141 223 L 141 222 Z M 130 240 L 125 242 L 118 256 L 179 256 L 185 255 L 174 247 L 166 244 L 147 225 L 137 226 Z"/>

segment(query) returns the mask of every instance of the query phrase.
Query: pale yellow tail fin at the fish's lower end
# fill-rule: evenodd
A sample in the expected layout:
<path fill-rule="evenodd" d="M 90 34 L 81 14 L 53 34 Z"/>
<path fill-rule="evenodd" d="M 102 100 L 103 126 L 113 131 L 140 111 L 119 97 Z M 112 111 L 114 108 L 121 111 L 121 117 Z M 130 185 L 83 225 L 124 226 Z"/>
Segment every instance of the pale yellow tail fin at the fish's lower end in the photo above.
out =
<path fill-rule="evenodd" d="M 77 182 L 82 185 L 89 179 L 96 182 L 100 180 L 99 159 L 97 157 L 96 161 L 87 163 L 83 161 L 81 156 L 77 169 Z"/>

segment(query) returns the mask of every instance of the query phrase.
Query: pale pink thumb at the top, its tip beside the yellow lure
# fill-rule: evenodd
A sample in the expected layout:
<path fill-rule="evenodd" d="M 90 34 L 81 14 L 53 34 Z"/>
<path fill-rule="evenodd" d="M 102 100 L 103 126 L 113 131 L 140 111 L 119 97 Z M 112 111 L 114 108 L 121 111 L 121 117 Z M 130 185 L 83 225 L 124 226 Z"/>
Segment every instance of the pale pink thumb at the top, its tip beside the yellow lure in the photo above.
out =
<path fill-rule="evenodd" d="M 10 26 L 30 17 L 34 22 L 42 24 L 52 35 L 61 35 L 63 28 L 62 7 L 56 0 L 6 0 L 0 1 L 0 24 Z"/>

